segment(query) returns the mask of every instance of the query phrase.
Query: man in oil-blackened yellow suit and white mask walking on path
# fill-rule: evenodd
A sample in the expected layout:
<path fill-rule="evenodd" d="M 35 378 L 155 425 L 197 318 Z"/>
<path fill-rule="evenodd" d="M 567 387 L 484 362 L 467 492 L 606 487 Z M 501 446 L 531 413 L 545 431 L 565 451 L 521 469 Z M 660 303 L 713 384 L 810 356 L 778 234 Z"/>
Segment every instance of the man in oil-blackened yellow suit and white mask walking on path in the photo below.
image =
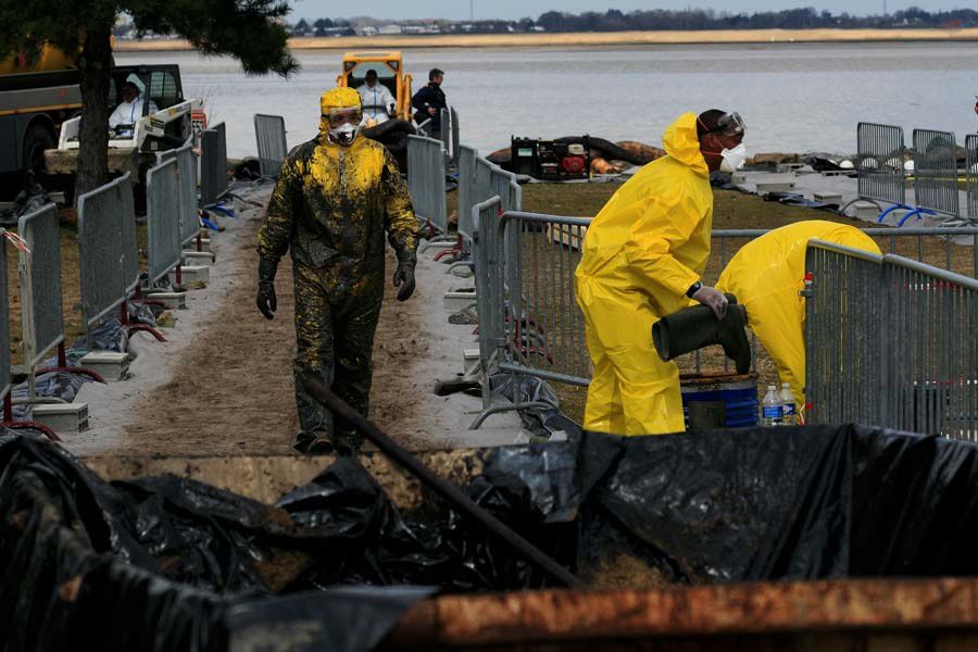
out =
<path fill-rule="evenodd" d="M 384 236 L 398 256 L 398 300 L 414 291 L 417 221 L 397 164 L 379 143 L 358 135 L 360 95 L 334 88 L 319 100 L 318 136 L 283 163 L 259 231 L 258 308 L 276 309 L 278 261 L 292 254 L 296 291 L 296 404 L 303 452 L 349 453 L 363 436 L 303 390 L 311 369 L 354 410 L 367 414 L 374 333 L 384 298 Z"/>

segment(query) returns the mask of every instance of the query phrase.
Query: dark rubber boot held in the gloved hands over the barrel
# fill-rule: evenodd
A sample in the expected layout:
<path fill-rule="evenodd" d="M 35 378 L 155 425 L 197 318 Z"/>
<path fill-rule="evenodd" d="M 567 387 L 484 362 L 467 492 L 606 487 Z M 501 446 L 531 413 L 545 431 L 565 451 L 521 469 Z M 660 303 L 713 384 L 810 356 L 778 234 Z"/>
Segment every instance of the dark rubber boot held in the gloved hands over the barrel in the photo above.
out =
<path fill-rule="evenodd" d="M 711 344 L 720 344 L 724 353 L 737 365 L 738 374 L 751 371 L 751 342 L 743 331 L 747 311 L 727 294 L 727 315 L 717 319 L 705 305 L 684 308 L 652 325 L 652 341 L 659 356 L 668 362 L 684 353 Z"/>

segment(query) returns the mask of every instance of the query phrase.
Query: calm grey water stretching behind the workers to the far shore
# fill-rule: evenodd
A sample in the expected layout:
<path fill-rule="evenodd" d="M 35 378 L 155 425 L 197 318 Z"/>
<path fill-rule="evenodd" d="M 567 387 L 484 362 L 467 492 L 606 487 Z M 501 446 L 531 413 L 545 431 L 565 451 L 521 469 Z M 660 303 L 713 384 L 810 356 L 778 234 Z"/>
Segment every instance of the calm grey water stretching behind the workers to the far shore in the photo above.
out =
<path fill-rule="evenodd" d="M 228 153 L 255 153 L 254 113 L 285 116 L 289 145 L 315 135 L 318 96 L 336 82 L 339 51 L 299 51 L 293 79 L 246 77 L 229 59 L 191 52 L 123 53 L 120 62 L 180 65 L 186 96 L 203 97 L 212 122 L 228 128 Z M 958 142 L 978 128 L 978 46 L 779 45 L 622 49 L 405 50 L 415 89 L 446 71 L 444 90 L 461 115 L 463 141 L 480 152 L 510 136 L 591 134 L 659 145 L 684 111 L 740 111 L 758 151 L 855 150 L 858 121 L 952 129 Z"/>

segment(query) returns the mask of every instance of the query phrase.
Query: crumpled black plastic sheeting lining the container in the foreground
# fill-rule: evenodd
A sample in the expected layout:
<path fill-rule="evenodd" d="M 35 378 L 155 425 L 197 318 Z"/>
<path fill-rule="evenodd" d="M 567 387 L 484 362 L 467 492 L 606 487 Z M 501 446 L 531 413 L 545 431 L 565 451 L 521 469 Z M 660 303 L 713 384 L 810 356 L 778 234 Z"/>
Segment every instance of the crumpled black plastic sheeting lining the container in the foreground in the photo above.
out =
<path fill-rule="evenodd" d="M 813 426 L 472 454 L 469 496 L 584 577 L 622 554 L 677 584 L 978 572 L 973 443 Z M 173 476 L 108 484 L 4 436 L 0 650 L 352 652 L 435 590 L 547 586 L 436 498 L 421 505 L 399 510 L 350 457 L 264 505 Z"/>

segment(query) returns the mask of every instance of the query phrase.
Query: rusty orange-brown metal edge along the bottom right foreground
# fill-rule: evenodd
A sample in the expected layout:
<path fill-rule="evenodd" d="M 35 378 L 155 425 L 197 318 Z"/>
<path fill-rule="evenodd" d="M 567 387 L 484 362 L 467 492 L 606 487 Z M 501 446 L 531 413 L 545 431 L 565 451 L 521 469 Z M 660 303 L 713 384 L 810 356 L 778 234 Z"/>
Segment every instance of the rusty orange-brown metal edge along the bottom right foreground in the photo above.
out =
<path fill-rule="evenodd" d="M 854 629 L 978 631 L 976 597 L 978 579 L 953 577 L 442 595 L 412 607 L 385 649 Z"/>

